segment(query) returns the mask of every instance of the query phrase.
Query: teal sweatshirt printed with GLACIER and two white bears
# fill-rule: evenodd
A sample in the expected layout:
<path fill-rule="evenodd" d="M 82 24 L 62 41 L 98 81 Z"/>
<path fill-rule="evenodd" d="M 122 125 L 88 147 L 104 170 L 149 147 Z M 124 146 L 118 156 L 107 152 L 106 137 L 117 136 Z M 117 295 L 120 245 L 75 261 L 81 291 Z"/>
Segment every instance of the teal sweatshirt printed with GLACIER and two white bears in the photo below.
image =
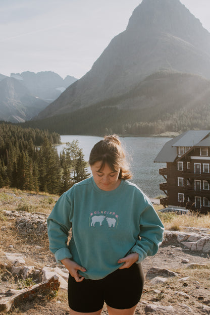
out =
<path fill-rule="evenodd" d="M 67 245 L 68 232 L 72 238 Z M 121 180 L 112 191 L 97 187 L 93 177 L 75 184 L 57 201 L 47 219 L 49 249 L 57 263 L 71 258 L 84 267 L 86 279 L 102 279 L 138 253 L 140 263 L 154 255 L 164 226 L 150 200 L 134 184 Z"/>

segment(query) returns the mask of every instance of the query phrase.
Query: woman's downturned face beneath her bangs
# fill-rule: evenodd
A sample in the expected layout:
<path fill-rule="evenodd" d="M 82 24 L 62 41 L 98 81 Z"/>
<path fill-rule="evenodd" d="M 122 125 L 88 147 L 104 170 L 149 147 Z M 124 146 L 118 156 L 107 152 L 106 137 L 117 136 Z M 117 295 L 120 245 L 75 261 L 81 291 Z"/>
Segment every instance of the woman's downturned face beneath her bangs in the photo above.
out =
<path fill-rule="evenodd" d="M 118 178 L 120 169 L 117 172 L 113 172 L 107 163 L 104 165 L 102 170 L 100 170 L 100 166 L 100 161 L 95 162 L 92 166 L 90 166 L 95 184 L 98 188 L 106 191 L 116 189 L 121 182 Z"/>

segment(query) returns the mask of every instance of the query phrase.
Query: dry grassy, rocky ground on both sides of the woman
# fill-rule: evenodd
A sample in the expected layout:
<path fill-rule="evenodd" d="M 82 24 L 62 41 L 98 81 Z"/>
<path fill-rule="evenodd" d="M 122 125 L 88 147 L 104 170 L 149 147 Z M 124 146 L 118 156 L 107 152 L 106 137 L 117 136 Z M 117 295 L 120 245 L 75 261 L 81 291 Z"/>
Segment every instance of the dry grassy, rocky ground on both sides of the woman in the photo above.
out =
<path fill-rule="evenodd" d="M 57 195 L 0 189 L 0 230 L 3 231 L 0 234 L 1 295 L 8 290 L 11 290 L 8 291 L 9 294 L 14 289 L 28 287 L 33 284 L 32 281 L 38 283 L 42 277 L 43 267 L 60 267 L 48 249 L 45 226 L 45 220 L 57 200 Z M 162 220 L 166 229 L 170 230 L 166 231 L 169 240 L 165 238 L 158 253 L 147 257 L 142 263 L 145 276 L 149 270 L 150 273 L 145 278 L 142 298 L 138 303 L 136 313 L 142 315 L 151 312 L 157 315 L 207 314 L 210 311 L 208 253 L 189 250 L 176 240 L 175 235 L 179 232 L 173 230 L 180 229 L 182 237 L 189 233 L 194 239 L 196 235 L 209 238 L 209 216 L 188 217 L 164 214 Z M 42 224 L 41 234 L 37 233 L 40 223 Z M 28 234 L 25 235 L 21 226 L 27 227 L 27 224 L 30 228 Z M 36 232 L 33 232 L 33 229 Z M 173 237 L 170 239 L 169 235 Z M 18 264 L 15 266 L 16 269 L 12 269 L 13 264 L 6 258 L 5 253 L 22 255 L 21 257 L 25 260 L 22 267 L 28 268 L 26 279 L 22 279 L 22 276 L 17 273 Z M 155 283 L 154 279 L 151 279 L 155 277 L 155 270 L 159 270 L 159 276 L 162 273 L 162 282 L 160 279 L 160 282 Z M 167 276 L 169 272 L 170 276 Z M 24 302 L 20 300 L 18 305 L 12 307 L 10 314 L 54 315 L 55 309 L 58 315 L 69 314 L 65 289 L 60 288 L 58 294 L 55 292 L 47 296 L 39 294 L 34 300 L 29 299 Z M 6 312 L 0 310 L 0 314 L 5 315 Z M 108 314 L 106 305 L 101 314 Z"/>

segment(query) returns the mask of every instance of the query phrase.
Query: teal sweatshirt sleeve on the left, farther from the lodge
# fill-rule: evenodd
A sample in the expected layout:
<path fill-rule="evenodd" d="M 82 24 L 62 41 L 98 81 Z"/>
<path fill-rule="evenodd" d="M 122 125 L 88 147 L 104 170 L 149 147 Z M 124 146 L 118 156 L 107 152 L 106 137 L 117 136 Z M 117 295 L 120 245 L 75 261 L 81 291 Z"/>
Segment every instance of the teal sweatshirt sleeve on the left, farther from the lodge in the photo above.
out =
<path fill-rule="evenodd" d="M 72 226 L 71 219 L 71 200 L 66 192 L 59 198 L 47 219 L 49 249 L 55 254 L 58 264 L 62 264 L 61 260 L 64 258 L 72 258 L 67 246 L 69 230 Z"/>

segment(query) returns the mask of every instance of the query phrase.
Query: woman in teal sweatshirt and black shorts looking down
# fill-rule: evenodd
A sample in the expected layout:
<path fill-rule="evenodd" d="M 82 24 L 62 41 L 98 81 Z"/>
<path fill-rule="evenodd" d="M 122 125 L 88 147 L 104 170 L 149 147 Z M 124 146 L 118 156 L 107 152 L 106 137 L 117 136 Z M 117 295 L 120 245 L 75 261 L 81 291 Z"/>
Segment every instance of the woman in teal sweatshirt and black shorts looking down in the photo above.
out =
<path fill-rule="evenodd" d="M 133 315 L 143 290 L 141 261 L 154 255 L 164 227 L 131 174 L 117 136 L 94 145 L 92 177 L 75 184 L 47 219 L 49 248 L 69 270 L 72 315 Z M 72 227 L 72 238 L 67 238 Z"/>

